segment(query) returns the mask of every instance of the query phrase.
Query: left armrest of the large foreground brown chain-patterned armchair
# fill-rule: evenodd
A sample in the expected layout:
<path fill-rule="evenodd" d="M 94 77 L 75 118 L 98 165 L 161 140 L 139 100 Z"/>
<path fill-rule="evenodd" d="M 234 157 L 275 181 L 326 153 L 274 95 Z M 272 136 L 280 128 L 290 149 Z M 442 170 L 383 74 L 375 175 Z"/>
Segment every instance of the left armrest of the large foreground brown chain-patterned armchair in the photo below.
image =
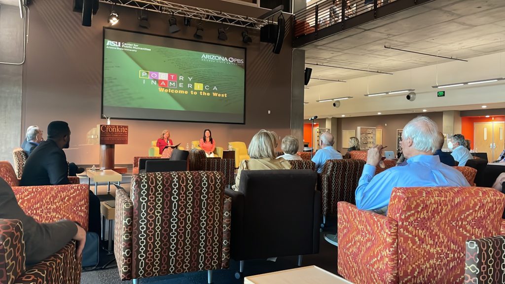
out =
<path fill-rule="evenodd" d="M 114 222 L 114 255 L 121 280 L 131 279 L 133 202 L 123 188 L 116 191 L 116 215 Z"/>

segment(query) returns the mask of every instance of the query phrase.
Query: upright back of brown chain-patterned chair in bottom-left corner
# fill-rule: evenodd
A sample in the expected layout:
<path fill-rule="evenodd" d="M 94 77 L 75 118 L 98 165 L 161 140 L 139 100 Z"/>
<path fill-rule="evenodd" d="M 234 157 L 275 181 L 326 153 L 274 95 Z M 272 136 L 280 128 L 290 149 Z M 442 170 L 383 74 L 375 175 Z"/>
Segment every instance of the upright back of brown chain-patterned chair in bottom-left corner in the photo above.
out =
<path fill-rule="evenodd" d="M 23 224 L 0 219 L 0 282 L 14 283 L 26 269 L 25 260 Z"/>

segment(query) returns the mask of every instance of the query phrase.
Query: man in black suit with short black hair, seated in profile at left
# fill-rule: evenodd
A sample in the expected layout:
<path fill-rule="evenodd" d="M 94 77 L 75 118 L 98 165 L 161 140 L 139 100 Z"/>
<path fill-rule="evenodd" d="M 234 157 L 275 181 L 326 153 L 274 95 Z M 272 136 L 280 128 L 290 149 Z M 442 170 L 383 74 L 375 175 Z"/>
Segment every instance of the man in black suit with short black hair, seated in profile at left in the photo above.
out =
<path fill-rule="evenodd" d="M 33 150 L 26 160 L 20 186 L 70 184 L 67 156 L 70 128 L 65 121 L 47 125 L 47 140 Z M 89 191 L 89 231 L 100 235 L 100 201 Z"/>

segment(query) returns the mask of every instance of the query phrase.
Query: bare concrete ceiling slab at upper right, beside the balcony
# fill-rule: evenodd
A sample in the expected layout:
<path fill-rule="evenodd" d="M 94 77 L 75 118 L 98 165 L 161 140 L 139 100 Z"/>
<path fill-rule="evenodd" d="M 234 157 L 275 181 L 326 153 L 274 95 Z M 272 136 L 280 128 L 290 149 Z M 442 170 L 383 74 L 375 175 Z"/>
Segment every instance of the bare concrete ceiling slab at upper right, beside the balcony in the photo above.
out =
<path fill-rule="evenodd" d="M 0 0 L 1 1 L 1 0 Z M 471 59 L 505 50 L 504 0 L 435 0 L 304 46 L 306 62 L 391 72 L 449 62 L 392 48 Z M 374 75 L 315 65 L 313 78 Z M 309 87 L 329 83 L 311 80 Z M 343 83 L 345 84 L 345 83 Z"/>

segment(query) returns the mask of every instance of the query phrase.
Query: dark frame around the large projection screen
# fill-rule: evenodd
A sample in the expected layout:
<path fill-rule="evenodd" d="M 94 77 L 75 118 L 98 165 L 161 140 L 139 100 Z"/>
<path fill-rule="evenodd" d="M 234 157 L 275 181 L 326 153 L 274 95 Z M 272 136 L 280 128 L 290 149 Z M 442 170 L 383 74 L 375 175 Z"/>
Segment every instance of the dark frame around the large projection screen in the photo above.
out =
<path fill-rule="evenodd" d="M 201 40 L 196 40 L 196 39 L 188 39 L 188 38 L 179 38 L 175 36 L 169 36 L 169 35 L 163 35 L 163 34 L 156 34 L 156 33 L 149 33 L 149 32 L 143 32 L 143 31 L 132 31 L 132 30 L 127 30 L 127 29 L 120 29 L 120 28 L 113 28 L 113 27 L 103 27 L 102 31 L 102 93 L 100 94 L 100 119 L 103 118 L 104 114 L 104 67 L 105 67 L 105 31 L 106 30 L 116 30 L 116 31 L 122 31 L 122 32 L 130 32 L 130 33 L 138 33 L 138 34 L 144 34 L 144 35 L 150 35 L 150 36 L 158 36 L 158 37 L 166 37 L 166 38 L 173 38 L 173 39 L 178 39 L 178 40 L 186 40 L 186 41 L 192 41 L 192 42 L 197 42 L 197 43 L 206 43 L 206 44 L 212 44 L 212 45 L 220 45 L 220 46 L 226 46 L 228 48 L 236 48 L 236 49 L 242 49 L 244 51 L 244 107 L 243 107 L 243 122 L 221 122 L 221 121 L 196 121 L 196 120 L 175 120 L 175 119 L 151 119 L 151 118 L 128 118 L 128 117 L 115 117 L 111 116 L 110 118 L 112 119 L 121 119 L 121 120 L 143 120 L 143 121 L 174 121 L 174 122 L 192 122 L 192 123 L 219 123 L 219 124 L 245 124 L 245 110 L 246 110 L 246 102 L 247 102 L 247 93 L 246 93 L 246 88 L 247 88 L 247 48 L 245 46 L 237 46 L 237 45 L 230 45 L 230 44 L 221 44 L 221 43 L 215 43 L 215 42 L 204 42 Z M 169 48 L 168 46 L 164 46 L 166 48 Z M 170 111 L 170 110 L 167 110 Z"/>

